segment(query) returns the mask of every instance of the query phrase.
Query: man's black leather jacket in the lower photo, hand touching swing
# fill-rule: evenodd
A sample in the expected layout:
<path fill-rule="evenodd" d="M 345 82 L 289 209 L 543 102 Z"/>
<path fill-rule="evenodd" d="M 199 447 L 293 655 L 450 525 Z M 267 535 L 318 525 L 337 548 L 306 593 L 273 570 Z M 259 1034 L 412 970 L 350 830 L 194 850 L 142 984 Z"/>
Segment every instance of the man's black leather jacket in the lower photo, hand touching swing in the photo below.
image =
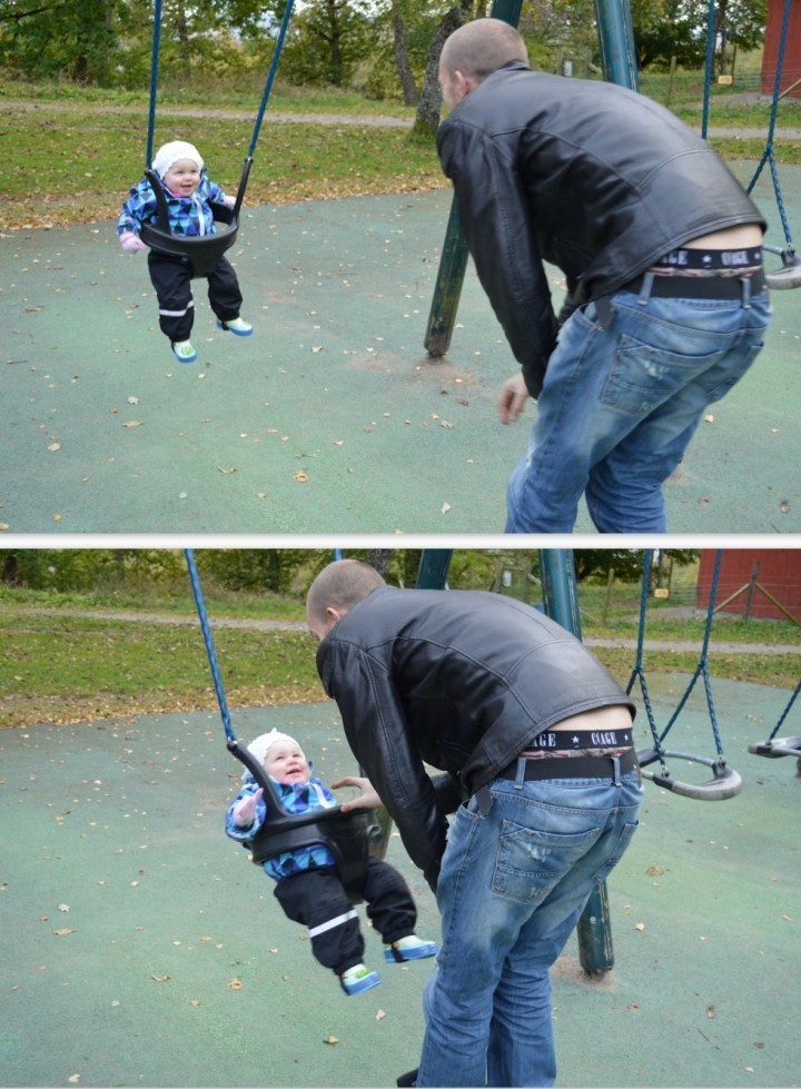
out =
<path fill-rule="evenodd" d="M 543 730 L 634 705 L 570 632 L 481 591 L 373 591 L 320 642 L 317 669 L 409 857 L 436 887 L 447 821 Z M 424 764 L 447 772 L 432 781 Z"/>

